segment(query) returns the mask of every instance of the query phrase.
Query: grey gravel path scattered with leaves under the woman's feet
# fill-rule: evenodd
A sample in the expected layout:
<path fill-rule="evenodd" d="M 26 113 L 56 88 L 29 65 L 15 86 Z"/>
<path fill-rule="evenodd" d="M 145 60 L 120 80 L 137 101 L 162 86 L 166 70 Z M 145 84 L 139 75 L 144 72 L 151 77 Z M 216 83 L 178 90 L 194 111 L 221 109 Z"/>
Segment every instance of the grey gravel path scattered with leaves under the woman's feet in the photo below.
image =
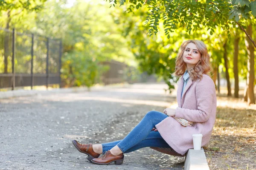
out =
<path fill-rule="evenodd" d="M 181 170 L 183 158 L 142 148 L 122 165 L 96 165 L 73 146 L 120 140 L 145 113 L 163 111 L 175 96 L 163 84 L 135 84 L 79 93 L 0 99 L 0 170 Z"/>

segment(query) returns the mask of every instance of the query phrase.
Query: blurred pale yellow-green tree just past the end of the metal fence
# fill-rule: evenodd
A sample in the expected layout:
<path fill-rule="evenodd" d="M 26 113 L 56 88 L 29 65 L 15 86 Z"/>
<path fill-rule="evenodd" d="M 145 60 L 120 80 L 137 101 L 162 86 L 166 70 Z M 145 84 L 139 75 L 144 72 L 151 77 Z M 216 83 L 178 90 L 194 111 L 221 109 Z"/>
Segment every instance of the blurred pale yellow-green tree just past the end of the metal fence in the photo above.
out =
<path fill-rule="evenodd" d="M 90 88 L 106 71 L 102 62 L 115 59 L 129 64 L 134 59 L 119 26 L 108 15 L 114 9 L 103 3 L 76 0 L 73 6 L 67 6 L 65 1 L 48 0 L 37 14 L 35 31 L 63 40 L 63 86 Z"/>

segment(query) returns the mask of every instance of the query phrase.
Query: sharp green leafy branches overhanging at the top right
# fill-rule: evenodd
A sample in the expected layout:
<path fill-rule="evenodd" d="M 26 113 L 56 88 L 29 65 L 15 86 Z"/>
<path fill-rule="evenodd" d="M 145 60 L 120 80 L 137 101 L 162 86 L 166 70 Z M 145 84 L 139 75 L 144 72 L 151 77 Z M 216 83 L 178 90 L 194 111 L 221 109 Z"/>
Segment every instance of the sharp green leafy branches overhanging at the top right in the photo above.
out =
<path fill-rule="evenodd" d="M 107 0 L 106 0 L 107 1 Z M 109 0 L 111 6 L 117 4 L 116 0 Z M 230 24 L 236 27 L 239 25 L 242 31 L 247 35 L 248 39 L 256 44 L 247 31 L 243 28 L 245 19 L 253 20 L 256 17 L 256 1 L 249 0 L 121 0 L 120 6 L 125 3 L 130 3 L 127 8 L 128 12 L 133 12 L 134 8 L 142 8 L 143 5 L 148 5 L 147 23 L 149 26 L 148 33 L 150 35 L 157 34 L 161 22 L 163 22 L 165 35 L 170 38 L 170 34 L 178 29 L 185 28 L 190 34 L 191 31 L 196 31 L 203 25 L 212 35 L 216 27 L 221 27 L 230 37 Z M 249 59 L 248 62 L 252 62 Z M 253 63 L 250 63 L 253 65 Z M 248 76 L 250 81 L 254 76 L 254 71 L 250 71 Z M 248 88 L 252 88 L 250 85 Z M 250 89 L 253 92 L 253 89 Z M 249 93 L 249 92 L 248 92 Z M 255 100 L 248 95 L 250 101 L 255 103 Z"/>

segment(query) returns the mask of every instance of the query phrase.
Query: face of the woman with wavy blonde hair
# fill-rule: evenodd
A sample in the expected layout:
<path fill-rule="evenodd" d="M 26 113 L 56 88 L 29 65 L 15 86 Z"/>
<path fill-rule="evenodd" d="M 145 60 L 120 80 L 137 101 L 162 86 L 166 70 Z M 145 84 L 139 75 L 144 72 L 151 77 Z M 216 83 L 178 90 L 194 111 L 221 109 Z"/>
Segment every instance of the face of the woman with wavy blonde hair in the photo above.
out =
<path fill-rule="evenodd" d="M 183 53 L 183 61 L 186 62 L 187 70 L 194 67 L 201 59 L 201 53 L 196 47 L 196 45 L 190 42 L 186 45 L 185 51 Z"/>

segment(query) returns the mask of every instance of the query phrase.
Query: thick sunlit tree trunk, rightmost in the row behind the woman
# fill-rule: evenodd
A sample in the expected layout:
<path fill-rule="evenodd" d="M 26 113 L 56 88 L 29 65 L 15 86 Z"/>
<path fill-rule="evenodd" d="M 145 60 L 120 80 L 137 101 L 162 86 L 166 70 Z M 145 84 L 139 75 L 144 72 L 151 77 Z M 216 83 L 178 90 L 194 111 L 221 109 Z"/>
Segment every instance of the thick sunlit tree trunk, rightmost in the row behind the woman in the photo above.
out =
<path fill-rule="evenodd" d="M 247 27 L 247 33 L 250 37 L 252 37 L 252 24 Z M 248 59 L 247 59 L 247 103 L 255 104 L 255 97 L 254 97 L 254 46 L 253 43 L 250 41 L 248 37 L 246 37 L 245 45 L 247 48 Z"/>

